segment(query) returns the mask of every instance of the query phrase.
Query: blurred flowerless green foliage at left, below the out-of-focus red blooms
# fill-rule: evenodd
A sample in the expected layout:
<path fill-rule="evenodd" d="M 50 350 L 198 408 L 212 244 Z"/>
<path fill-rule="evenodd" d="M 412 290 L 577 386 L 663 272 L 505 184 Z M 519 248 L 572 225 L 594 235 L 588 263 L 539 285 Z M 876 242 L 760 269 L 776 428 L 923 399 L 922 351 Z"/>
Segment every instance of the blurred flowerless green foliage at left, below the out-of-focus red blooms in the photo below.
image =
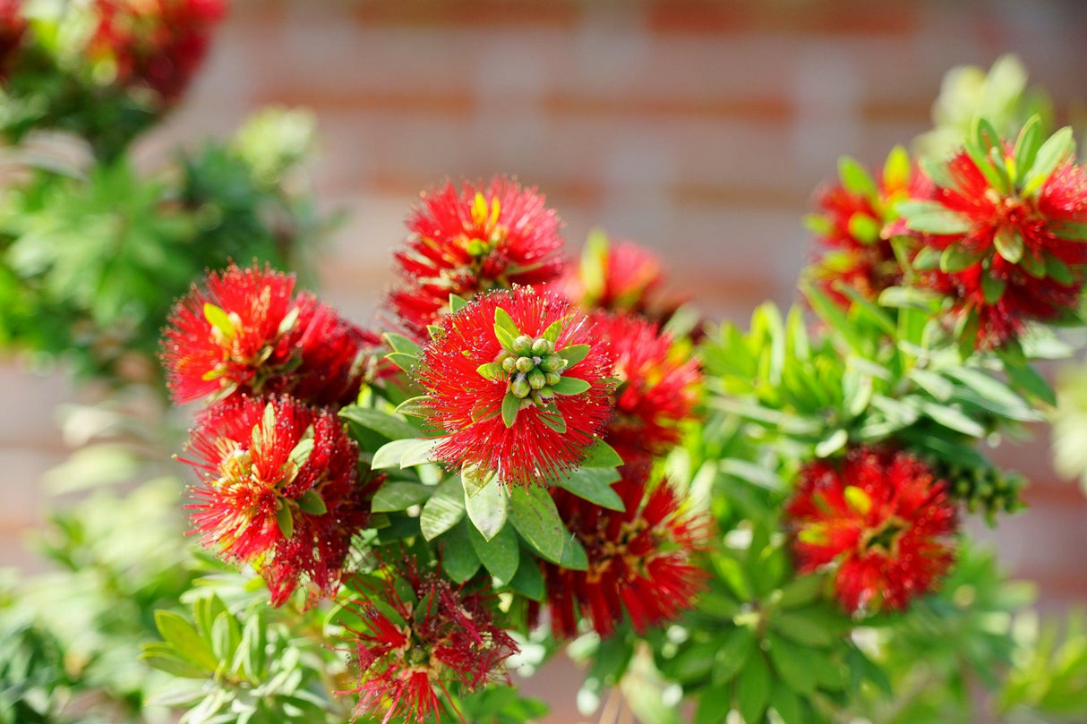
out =
<path fill-rule="evenodd" d="M 262 118 L 251 125 L 265 146 L 250 139 L 245 154 L 209 142 L 150 177 L 122 155 L 63 172 L 39 165 L 3 189 L 0 347 L 63 357 L 109 380 L 154 376 L 172 301 L 204 270 L 230 259 L 297 265 L 326 222 L 289 190 L 288 164 L 302 155 L 297 138 L 273 130 L 291 124 Z"/>

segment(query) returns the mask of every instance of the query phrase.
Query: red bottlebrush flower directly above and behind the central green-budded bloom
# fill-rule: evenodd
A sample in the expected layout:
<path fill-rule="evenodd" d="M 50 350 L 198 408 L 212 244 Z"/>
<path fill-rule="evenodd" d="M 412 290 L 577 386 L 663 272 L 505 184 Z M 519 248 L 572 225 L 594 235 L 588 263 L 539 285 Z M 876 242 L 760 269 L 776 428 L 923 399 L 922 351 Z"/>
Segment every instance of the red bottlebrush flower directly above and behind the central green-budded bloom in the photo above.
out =
<path fill-rule="evenodd" d="M 535 188 L 522 189 L 509 178 L 424 194 L 408 220 L 408 248 L 396 254 L 400 284 L 389 305 L 425 339 L 450 295 L 471 299 L 489 289 L 550 282 L 564 266 L 560 226 Z"/>

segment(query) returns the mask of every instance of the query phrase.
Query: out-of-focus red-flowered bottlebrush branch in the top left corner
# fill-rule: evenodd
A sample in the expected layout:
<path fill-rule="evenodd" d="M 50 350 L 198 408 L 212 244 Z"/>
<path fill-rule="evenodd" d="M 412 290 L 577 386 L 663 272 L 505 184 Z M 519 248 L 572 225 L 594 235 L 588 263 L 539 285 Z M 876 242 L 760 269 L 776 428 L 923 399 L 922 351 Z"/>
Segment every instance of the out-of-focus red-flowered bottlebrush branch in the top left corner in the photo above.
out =
<path fill-rule="evenodd" d="M 116 158 L 180 100 L 226 9 L 227 0 L 5 0 L 0 135 L 58 128 Z"/>

